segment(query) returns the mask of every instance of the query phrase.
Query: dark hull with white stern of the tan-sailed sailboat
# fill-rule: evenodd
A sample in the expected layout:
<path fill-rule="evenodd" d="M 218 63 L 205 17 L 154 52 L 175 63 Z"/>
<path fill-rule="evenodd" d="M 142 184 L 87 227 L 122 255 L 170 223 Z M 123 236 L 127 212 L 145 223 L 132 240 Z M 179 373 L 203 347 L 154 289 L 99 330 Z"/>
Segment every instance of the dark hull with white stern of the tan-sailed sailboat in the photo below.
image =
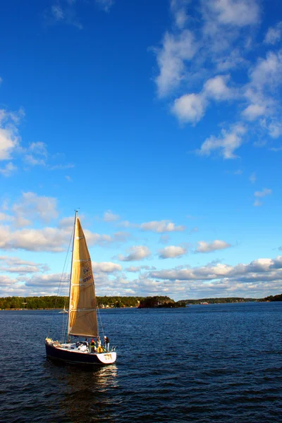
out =
<path fill-rule="evenodd" d="M 50 343 L 45 343 L 46 355 L 51 360 L 59 360 L 68 364 L 84 364 L 84 365 L 105 365 L 113 364 L 116 361 L 116 353 L 80 353 L 78 351 L 66 350 L 58 348 Z"/>

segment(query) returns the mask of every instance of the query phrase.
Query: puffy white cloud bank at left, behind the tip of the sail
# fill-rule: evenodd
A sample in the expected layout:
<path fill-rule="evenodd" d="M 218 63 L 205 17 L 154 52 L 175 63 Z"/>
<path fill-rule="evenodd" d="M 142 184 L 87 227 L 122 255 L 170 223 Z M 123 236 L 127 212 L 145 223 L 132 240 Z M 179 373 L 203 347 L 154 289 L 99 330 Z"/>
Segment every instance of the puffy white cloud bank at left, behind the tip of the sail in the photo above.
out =
<path fill-rule="evenodd" d="M 26 228 L 33 222 L 48 223 L 56 219 L 56 199 L 53 197 L 39 197 L 34 192 L 24 192 L 20 201 L 11 207 L 13 214 L 0 213 L 0 248 L 4 250 L 27 250 L 61 252 L 66 249 L 73 228 L 73 217 L 61 219 L 57 226 L 43 228 Z M 22 228 L 25 226 L 25 228 Z M 16 229 L 21 228 L 21 229 Z M 113 235 L 93 233 L 84 229 L 89 246 L 124 243 L 130 238 L 127 232 L 119 231 Z"/>

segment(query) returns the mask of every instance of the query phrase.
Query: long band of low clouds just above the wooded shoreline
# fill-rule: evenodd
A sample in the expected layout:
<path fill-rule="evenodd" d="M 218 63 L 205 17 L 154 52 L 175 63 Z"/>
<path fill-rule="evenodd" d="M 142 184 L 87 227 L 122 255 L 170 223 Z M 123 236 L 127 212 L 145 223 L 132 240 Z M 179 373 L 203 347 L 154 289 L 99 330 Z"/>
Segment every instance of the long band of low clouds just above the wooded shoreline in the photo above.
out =
<path fill-rule="evenodd" d="M 139 273 L 141 269 L 147 271 Z M 235 296 L 262 298 L 281 292 L 282 256 L 235 266 L 212 262 L 186 268 L 177 266 L 157 270 L 149 266 L 130 266 L 125 270 L 139 273 L 138 277 L 130 280 L 116 271 L 113 274 L 99 271 L 95 275 L 97 295 L 169 295 L 175 300 Z M 4 276 L 0 278 L 0 295 L 55 294 L 60 279 L 60 274 Z M 65 293 L 68 290 L 68 275 L 63 279 L 63 289 Z"/>

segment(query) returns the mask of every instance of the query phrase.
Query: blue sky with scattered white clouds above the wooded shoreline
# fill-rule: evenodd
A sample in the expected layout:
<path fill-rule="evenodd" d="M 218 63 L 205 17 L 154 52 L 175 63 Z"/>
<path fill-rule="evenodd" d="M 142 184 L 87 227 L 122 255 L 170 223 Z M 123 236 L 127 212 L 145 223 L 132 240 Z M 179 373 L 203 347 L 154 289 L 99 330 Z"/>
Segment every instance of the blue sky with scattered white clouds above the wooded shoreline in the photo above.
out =
<path fill-rule="evenodd" d="M 282 3 L 11 0 L 0 296 L 55 295 L 75 209 L 97 295 L 282 292 Z"/>

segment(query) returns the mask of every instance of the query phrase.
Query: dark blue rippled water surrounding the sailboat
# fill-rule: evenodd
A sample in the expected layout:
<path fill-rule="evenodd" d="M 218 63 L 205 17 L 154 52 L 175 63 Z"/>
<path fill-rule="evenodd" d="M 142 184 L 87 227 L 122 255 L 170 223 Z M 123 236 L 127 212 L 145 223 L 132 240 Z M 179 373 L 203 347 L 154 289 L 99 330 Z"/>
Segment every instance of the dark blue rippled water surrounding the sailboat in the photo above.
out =
<path fill-rule="evenodd" d="M 281 422 L 282 302 L 102 310 L 118 361 L 49 362 L 49 311 L 0 312 L 3 422 Z M 61 333 L 62 314 L 54 314 Z"/>

